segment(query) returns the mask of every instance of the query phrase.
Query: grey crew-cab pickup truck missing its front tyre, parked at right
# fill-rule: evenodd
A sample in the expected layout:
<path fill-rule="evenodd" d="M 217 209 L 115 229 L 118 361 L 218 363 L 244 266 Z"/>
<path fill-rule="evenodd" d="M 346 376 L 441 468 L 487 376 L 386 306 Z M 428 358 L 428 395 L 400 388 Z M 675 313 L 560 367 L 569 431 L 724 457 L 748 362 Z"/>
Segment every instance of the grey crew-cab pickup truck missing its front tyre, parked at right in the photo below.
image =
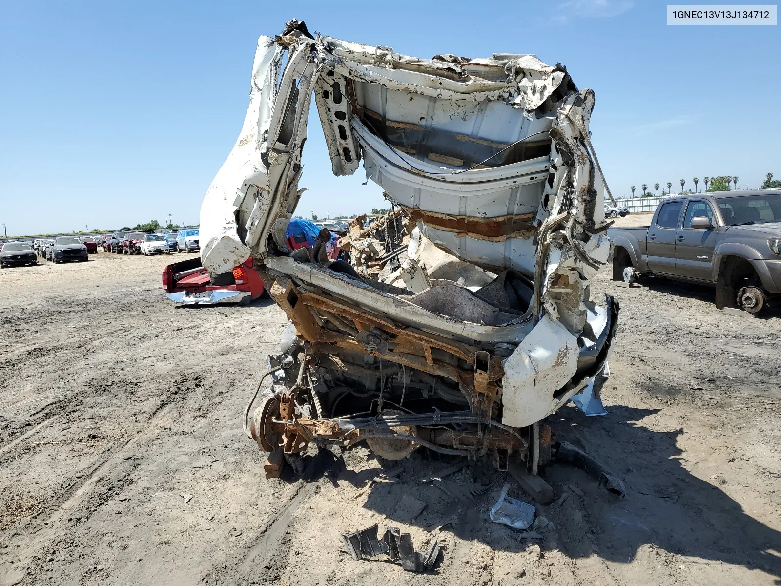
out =
<path fill-rule="evenodd" d="M 665 199 L 650 227 L 610 228 L 613 280 L 645 275 L 715 285 L 716 307 L 759 313 L 781 295 L 781 192 Z"/>

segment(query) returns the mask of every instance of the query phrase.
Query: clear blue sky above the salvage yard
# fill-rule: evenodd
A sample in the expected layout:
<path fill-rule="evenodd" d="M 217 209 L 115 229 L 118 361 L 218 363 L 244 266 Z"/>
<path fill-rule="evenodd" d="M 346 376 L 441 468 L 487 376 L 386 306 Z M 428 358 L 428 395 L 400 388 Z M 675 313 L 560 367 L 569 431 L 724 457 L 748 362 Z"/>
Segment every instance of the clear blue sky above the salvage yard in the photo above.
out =
<path fill-rule="evenodd" d="M 244 120 L 258 36 L 291 17 L 408 55 L 563 63 L 596 93 L 591 130 L 614 195 L 695 175 L 736 175 L 741 188 L 781 177 L 777 27 L 669 27 L 665 3 L 630 0 L 26 0 L 0 8 L 0 223 L 10 235 L 197 222 Z M 333 177 L 316 120 L 297 213 L 380 207 L 362 170 Z"/>

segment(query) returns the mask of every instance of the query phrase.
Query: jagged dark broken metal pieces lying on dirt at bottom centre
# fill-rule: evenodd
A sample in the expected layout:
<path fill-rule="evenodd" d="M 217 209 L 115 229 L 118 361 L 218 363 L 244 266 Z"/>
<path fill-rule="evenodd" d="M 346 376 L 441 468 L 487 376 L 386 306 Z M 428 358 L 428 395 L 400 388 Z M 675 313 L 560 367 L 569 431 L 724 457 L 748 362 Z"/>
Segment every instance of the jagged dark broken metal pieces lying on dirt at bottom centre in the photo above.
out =
<path fill-rule="evenodd" d="M 398 527 L 388 527 L 383 538 L 379 539 L 378 528 L 375 523 L 362 531 L 341 534 L 344 551 L 355 561 L 373 559 L 385 554 L 391 562 L 398 563 L 408 572 L 430 570 L 437 561 L 441 549 L 439 537 L 433 538 L 425 554 L 420 554 L 415 552 L 410 534 L 401 533 Z"/>

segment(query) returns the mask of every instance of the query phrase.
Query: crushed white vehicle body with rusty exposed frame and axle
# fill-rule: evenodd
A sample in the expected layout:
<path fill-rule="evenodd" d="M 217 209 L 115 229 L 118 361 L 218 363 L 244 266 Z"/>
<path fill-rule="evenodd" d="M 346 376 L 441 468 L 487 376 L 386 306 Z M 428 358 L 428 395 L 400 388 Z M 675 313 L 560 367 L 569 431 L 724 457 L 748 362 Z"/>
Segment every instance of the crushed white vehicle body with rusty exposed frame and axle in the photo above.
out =
<path fill-rule="evenodd" d="M 351 225 L 351 262 L 285 239 L 312 94 L 333 173 L 362 162 L 394 208 L 384 242 Z M 535 55 L 419 59 L 298 20 L 259 39 L 200 229 L 209 277 L 252 259 L 291 320 L 245 413 L 267 475 L 308 445 L 359 441 L 386 459 L 519 457 L 532 473 L 550 459 L 540 421 L 584 390 L 599 401 L 619 313 L 590 298 L 609 252 L 593 107 Z M 382 249 L 365 255 L 367 236 Z"/>

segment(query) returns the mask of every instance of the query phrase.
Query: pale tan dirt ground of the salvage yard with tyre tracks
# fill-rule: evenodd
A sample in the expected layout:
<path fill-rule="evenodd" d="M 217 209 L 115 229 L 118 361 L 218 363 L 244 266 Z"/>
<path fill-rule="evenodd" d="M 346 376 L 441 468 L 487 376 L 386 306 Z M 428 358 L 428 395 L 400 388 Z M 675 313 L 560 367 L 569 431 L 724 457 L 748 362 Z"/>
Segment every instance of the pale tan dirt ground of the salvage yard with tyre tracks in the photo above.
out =
<path fill-rule="evenodd" d="M 266 481 L 241 414 L 287 322 L 269 301 L 174 308 L 160 270 L 184 258 L 0 270 L 0 584 L 781 582 L 778 311 L 726 316 L 706 288 L 603 271 L 592 296 L 622 304 L 609 414 L 549 423 L 627 495 L 553 464 L 548 523 L 524 541 L 487 510 L 505 482 L 530 497 L 487 463 L 448 477 L 484 489 L 467 502 L 415 482 L 454 462 L 422 452 L 366 492 L 383 464 L 360 446 L 311 459 L 309 482 Z M 405 495 L 426 508 L 399 523 Z M 341 531 L 373 523 L 418 550 L 439 534 L 434 570 L 340 551 Z"/>

